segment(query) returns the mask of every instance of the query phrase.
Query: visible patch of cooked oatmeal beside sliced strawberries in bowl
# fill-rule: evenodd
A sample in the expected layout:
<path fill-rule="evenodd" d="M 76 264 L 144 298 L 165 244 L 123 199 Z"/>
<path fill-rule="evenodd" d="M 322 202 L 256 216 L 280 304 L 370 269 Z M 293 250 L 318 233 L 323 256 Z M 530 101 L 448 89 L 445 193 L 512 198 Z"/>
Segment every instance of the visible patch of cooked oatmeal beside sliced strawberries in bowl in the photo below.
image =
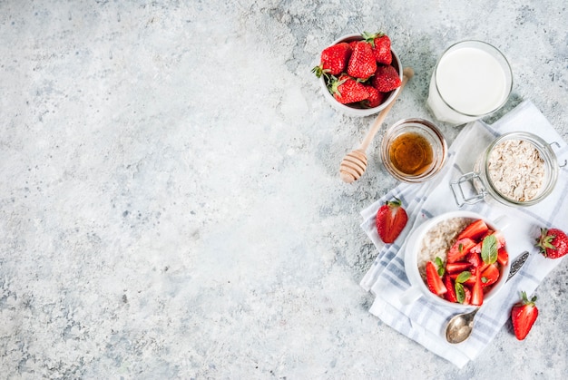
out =
<path fill-rule="evenodd" d="M 446 219 L 431 229 L 428 229 L 418 251 L 418 270 L 420 276 L 426 279 L 426 262 L 434 261 L 436 258 L 446 260 L 446 252 L 455 242 L 457 235 L 467 227 L 474 219 L 452 218 Z"/>

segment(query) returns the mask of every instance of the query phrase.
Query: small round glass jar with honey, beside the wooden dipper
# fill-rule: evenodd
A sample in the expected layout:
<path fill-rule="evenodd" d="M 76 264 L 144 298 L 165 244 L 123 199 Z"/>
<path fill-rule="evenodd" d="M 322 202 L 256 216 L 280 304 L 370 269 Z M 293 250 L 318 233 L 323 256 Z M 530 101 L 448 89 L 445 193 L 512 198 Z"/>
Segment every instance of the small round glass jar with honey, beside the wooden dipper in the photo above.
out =
<path fill-rule="evenodd" d="M 401 120 L 383 136 L 381 159 L 397 180 L 408 183 L 430 180 L 442 169 L 446 157 L 444 135 L 427 120 Z"/>

